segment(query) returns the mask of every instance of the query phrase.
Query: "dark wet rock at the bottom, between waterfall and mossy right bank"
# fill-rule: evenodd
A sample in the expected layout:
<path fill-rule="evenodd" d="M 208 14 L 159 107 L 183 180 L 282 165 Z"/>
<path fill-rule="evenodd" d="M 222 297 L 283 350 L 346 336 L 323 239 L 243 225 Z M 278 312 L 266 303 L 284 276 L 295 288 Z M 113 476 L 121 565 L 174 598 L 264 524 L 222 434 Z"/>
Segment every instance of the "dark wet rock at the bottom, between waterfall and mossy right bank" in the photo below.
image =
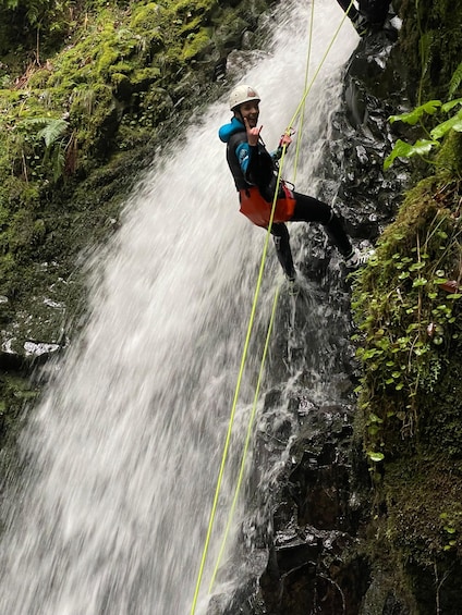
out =
<path fill-rule="evenodd" d="M 257 512 L 242 529 L 242 542 L 253 544 L 244 556 L 247 582 L 231 598 L 215 596 L 207 615 L 353 614 L 370 582 L 367 561 L 354 554 L 361 506 L 350 480 L 353 410 L 316 406 L 305 391 L 297 405 L 294 398 L 289 403 L 291 418 L 271 431 L 281 397 L 277 391 L 267 395 L 268 419 L 259 426 L 255 446 L 251 491 L 258 499 Z M 300 433 L 287 448 L 296 425 Z M 262 489 L 262 468 L 271 467 L 284 451 L 279 477 Z"/>

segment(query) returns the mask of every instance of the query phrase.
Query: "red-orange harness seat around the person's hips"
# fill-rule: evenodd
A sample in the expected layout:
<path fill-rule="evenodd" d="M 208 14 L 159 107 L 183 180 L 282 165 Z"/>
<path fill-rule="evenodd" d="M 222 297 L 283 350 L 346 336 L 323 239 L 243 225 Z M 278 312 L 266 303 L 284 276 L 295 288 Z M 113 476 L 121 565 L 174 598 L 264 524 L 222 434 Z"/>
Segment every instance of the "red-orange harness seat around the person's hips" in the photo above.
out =
<path fill-rule="evenodd" d="M 281 186 L 284 197 L 278 198 L 276 201 L 272 222 L 287 222 L 291 220 L 295 209 L 295 199 L 293 198 L 292 190 L 284 183 L 281 183 Z M 256 186 L 239 190 L 239 200 L 241 202 L 241 213 L 257 226 L 268 227 L 272 202 L 265 200 Z"/>

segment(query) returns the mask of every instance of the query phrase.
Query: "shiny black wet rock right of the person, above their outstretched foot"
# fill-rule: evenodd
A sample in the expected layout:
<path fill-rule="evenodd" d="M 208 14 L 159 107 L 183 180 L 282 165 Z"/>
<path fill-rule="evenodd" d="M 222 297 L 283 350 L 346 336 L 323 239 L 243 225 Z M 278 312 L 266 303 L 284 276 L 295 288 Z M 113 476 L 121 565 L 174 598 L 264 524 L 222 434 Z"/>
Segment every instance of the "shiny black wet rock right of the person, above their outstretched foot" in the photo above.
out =
<path fill-rule="evenodd" d="M 372 243 L 392 221 L 409 183 L 405 167 L 382 168 L 403 130 L 388 118 L 406 109 L 408 101 L 405 63 L 394 38 L 378 33 L 360 41 L 346 67 L 344 106 L 329 143 L 342 177 L 337 208 L 348 233 Z"/>

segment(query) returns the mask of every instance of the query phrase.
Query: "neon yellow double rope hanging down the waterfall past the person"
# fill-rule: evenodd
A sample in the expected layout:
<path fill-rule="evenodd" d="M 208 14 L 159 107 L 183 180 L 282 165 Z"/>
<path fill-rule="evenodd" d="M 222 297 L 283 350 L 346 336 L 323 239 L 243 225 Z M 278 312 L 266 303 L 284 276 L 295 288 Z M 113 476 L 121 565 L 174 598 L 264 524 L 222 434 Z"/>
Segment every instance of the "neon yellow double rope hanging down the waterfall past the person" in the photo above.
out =
<path fill-rule="evenodd" d="M 353 0 L 351 0 L 349 10 L 350 10 L 352 4 L 353 4 Z M 330 51 L 330 49 L 333 45 L 339 32 L 340 32 L 340 28 L 341 28 L 345 19 L 346 19 L 346 13 L 344 14 L 342 21 L 340 22 L 340 25 L 336 29 L 336 33 L 333 34 L 333 37 L 332 37 L 330 44 L 328 45 L 327 50 L 324 53 L 321 61 L 320 61 L 317 70 L 315 71 L 315 74 L 314 74 L 309 85 L 307 87 L 305 87 L 305 91 L 303 93 L 302 99 L 301 99 L 301 101 L 300 101 L 300 103 L 299 103 L 299 106 L 295 110 L 295 113 L 293 114 L 293 118 L 289 123 L 289 128 L 285 131 L 285 134 L 290 134 L 290 130 L 291 130 L 290 127 L 295 122 L 297 114 L 303 109 L 305 100 L 306 100 L 306 98 L 307 98 L 307 96 L 311 91 L 311 88 L 313 87 L 313 84 L 314 84 L 317 75 L 319 74 L 320 69 L 321 69 L 324 62 L 326 61 L 326 58 L 327 58 L 327 56 L 328 56 L 328 53 L 329 53 L 329 51 Z M 222 479 L 223 479 L 226 462 L 227 462 L 227 458 L 228 458 L 228 452 L 229 452 L 229 447 L 230 447 L 230 443 L 231 443 L 232 427 L 233 427 L 233 423 L 234 423 L 238 398 L 239 398 L 239 393 L 240 393 L 240 389 L 241 389 L 245 361 L 246 361 L 246 357 L 247 357 L 252 330 L 253 330 L 253 325 L 254 325 L 256 306 L 257 306 L 258 296 L 259 296 L 259 292 L 260 292 L 260 287 L 262 287 L 263 272 L 264 272 L 264 269 L 265 269 L 269 237 L 270 237 L 270 234 L 271 234 L 271 226 L 272 226 L 272 221 L 273 221 L 273 218 L 275 218 L 276 202 L 277 202 L 277 199 L 278 199 L 279 185 L 281 183 L 281 172 L 282 172 L 282 168 L 283 168 L 283 160 L 284 160 L 284 156 L 285 156 L 285 150 L 287 150 L 287 145 L 284 145 L 282 147 L 282 156 L 281 156 L 280 162 L 279 162 L 279 171 L 278 171 L 275 197 L 273 197 L 273 200 L 272 200 L 271 214 L 270 214 L 269 224 L 268 224 L 268 229 L 267 229 L 267 233 L 266 233 L 266 237 L 265 237 L 265 243 L 264 243 L 264 248 L 263 248 L 263 254 L 262 254 L 262 260 L 260 260 L 260 267 L 259 267 L 258 278 L 257 278 L 257 284 L 256 284 L 256 288 L 255 288 L 254 300 L 253 300 L 253 304 L 252 304 L 251 317 L 250 317 L 250 320 L 248 320 L 247 333 L 246 333 L 246 336 L 245 336 L 244 349 L 243 349 L 243 353 L 242 353 L 241 366 L 240 366 L 239 376 L 238 376 L 238 383 L 236 383 L 235 391 L 234 391 L 234 398 L 233 398 L 233 404 L 232 404 L 232 408 L 231 408 L 231 415 L 230 415 L 230 420 L 229 420 L 229 425 L 228 425 L 227 436 L 226 436 L 223 453 L 222 453 L 222 457 L 221 457 L 220 470 L 219 470 L 218 479 L 217 479 L 217 485 L 216 485 L 216 489 L 215 489 L 214 502 L 212 502 L 212 506 L 211 506 L 206 540 L 205 540 L 205 544 L 204 544 L 204 549 L 203 549 L 202 558 L 200 558 L 200 566 L 199 566 L 199 571 L 198 571 L 198 575 L 197 575 L 197 581 L 196 581 L 196 587 L 195 587 L 194 596 L 193 596 L 193 603 L 192 603 L 192 607 L 191 607 L 191 615 L 194 615 L 195 611 L 196 611 L 198 594 L 199 594 L 200 585 L 202 585 L 202 579 L 203 579 L 203 576 L 204 576 L 205 562 L 206 562 L 206 558 L 207 558 L 207 552 L 208 552 L 208 546 L 210 544 L 212 526 L 214 526 L 214 521 L 215 521 L 215 517 L 216 517 L 216 513 L 217 513 L 218 499 L 219 499 L 219 494 L 220 494 L 220 490 L 221 490 L 221 483 L 222 483 Z M 255 394 L 254 405 L 253 405 L 253 409 L 252 409 L 252 413 L 251 413 L 250 426 L 247 428 L 247 436 L 246 436 L 245 444 L 244 444 L 244 453 L 243 453 L 242 460 L 241 460 L 241 469 L 240 469 L 240 473 L 239 473 L 239 478 L 238 478 L 238 485 L 236 485 L 236 489 L 235 489 L 234 499 L 233 499 L 232 506 L 231 506 L 231 513 L 233 513 L 234 509 L 235 509 L 235 505 L 236 505 L 238 496 L 239 496 L 239 490 L 240 490 L 240 487 L 241 487 L 241 483 L 242 483 L 244 466 L 245 466 L 245 455 L 246 455 L 246 452 L 248 450 L 252 426 L 253 426 L 254 418 L 255 418 L 257 394 L 259 392 L 262 374 L 263 374 L 263 367 L 264 367 L 264 362 L 265 362 L 265 359 L 266 359 L 266 353 L 267 353 L 267 348 L 268 348 L 268 344 L 269 344 L 269 335 L 270 335 L 270 332 L 271 332 L 271 329 L 272 329 L 273 316 L 276 313 L 276 306 L 277 306 L 278 297 L 279 297 L 279 288 L 277 290 L 276 296 L 275 296 L 272 313 L 271 313 L 271 322 L 270 322 L 270 325 L 268 328 L 267 341 L 266 341 L 266 344 L 265 344 L 264 355 L 263 355 L 263 358 L 262 358 L 260 372 L 259 372 L 258 382 L 257 382 L 257 391 L 256 391 L 256 394 Z M 227 528 L 226 528 L 226 536 L 224 536 L 222 543 L 221 543 L 221 546 L 220 546 L 219 559 L 218 559 L 218 562 L 215 566 L 215 569 L 214 569 L 214 575 L 212 575 L 212 579 L 211 579 L 211 582 L 210 582 L 210 589 L 214 585 L 214 580 L 216 578 L 216 574 L 217 574 L 218 567 L 219 567 L 220 557 L 221 557 L 222 552 L 224 550 L 226 538 L 227 538 L 227 534 L 228 534 L 229 529 L 231 527 L 231 519 L 232 519 L 232 514 L 229 516 L 229 519 L 228 519 L 228 524 L 227 524 Z"/>

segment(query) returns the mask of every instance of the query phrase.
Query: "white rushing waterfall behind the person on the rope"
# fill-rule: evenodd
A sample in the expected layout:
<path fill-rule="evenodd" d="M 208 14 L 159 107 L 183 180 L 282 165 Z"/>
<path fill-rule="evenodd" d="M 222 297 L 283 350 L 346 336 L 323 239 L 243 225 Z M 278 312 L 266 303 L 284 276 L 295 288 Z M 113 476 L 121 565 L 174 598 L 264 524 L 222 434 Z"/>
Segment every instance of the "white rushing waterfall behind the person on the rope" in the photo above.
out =
<path fill-rule="evenodd" d="M 303 94 L 309 11 L 305 0 L 280 4 L 269 48 L 233 60 L 262 96 L 269 147 Z M 317 3 L 312 71 L 341 19 L 335 0 Z M 307 99 L 299 190 L 314 194 L 313 170 L 355 44 L 345 23 Z M 90 263 L 88 322 L 53 366 L 22 434 L 28 469 L 2 505 L 4 615 L 190 613 L 265 241 L 239 213 L 217 137 L 230 118 L 226 89 L 144 174 L 108 254 Z M 259 342 L 281 281 L 270 243 Z M 313 311 L 312 329 L 323 329 L 321 311 Z M 251 353 L 248 365 L 234 466 L 259 356 Z M 264 386 L 276 378 L 269 371 Z M 234 488 L 227 476 L 220 529 Z M 219 540 L 210 545 L 202 614 Z"/>

